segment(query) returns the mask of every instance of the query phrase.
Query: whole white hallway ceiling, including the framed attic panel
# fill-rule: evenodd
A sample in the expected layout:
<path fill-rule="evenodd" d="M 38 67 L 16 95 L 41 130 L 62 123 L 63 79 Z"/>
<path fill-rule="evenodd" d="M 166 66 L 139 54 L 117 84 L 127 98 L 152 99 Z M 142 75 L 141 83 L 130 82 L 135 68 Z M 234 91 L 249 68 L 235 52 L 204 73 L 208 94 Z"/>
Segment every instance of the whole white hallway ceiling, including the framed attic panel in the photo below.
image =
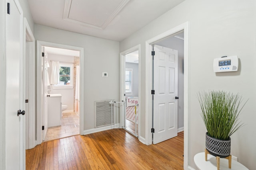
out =
<path fill-rule="evenodd" d="M 122 41 L 184 0 L 28 0 L 34 22 Z"/>

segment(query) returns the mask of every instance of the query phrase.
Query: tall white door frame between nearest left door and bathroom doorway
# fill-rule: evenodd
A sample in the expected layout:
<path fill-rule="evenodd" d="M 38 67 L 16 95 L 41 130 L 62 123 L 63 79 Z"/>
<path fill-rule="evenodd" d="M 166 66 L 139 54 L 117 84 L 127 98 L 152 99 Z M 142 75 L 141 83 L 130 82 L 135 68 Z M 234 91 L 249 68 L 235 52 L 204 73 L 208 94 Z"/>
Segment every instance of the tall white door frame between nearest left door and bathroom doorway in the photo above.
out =
<path fill-rule="evenodd" d="M 24 86 L 25 91 L 26 87 L 28 92 L 25 93 L 25 99 L 28 99 L 28 105 L 26 106 L 26 149 L 32 149 L 36 146 L 36 134 L 35 134 L 35 113 L 36 113 L 36 73 L 35 73 L 35 38 L 30 29 L 28 21 L 24 18 L 23 21 L 23 56 L 24 56 L 24 82 L 26 85 Z M 26 65 L 26 59 L 28 60 L 28 65 Z M 28 69 L 28 73 L 26 74 L 26 69 Z M 29 77 L 29 81 L 26 81 L 26 78 Z M 26 98 L 27 94 L 27 98 Z"/>

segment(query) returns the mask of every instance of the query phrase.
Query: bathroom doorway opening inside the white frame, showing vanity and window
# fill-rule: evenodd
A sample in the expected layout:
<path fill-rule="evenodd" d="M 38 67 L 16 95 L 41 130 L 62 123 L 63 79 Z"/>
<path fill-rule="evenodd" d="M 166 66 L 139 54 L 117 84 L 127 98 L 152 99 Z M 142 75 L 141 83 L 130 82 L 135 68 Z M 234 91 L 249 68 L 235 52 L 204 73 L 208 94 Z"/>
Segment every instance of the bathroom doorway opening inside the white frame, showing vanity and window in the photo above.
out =
<path fill-rule="evenodd" d="M 48 94 L 48 127 L 44 128 L 47 130 L 44 132 L 44 141 L 79 135 L 80 52 L 48 46 L 43 48 L 47 64 L 45 86 Z M 61 101 L 61 113 L 55 101 Z"/>

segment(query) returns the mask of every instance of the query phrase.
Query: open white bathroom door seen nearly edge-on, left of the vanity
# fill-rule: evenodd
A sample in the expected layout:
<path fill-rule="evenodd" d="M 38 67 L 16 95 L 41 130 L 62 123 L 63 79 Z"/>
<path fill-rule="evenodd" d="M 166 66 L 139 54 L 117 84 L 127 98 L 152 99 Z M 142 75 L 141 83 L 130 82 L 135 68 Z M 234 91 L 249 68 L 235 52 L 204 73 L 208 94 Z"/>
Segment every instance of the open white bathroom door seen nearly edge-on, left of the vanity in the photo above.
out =
<path fill-rule="evenodd" d="M 44 94 L 42 95 L 44 96 L 42 107 L 42 125 L 44 130 L 42 131 L 42 140 L 44 141 L 48 130 L 48 59 L 44 47 L 42 47 L 42 51 L 44 53 L 44 57 L 42 56 L 42 94 Z"/>

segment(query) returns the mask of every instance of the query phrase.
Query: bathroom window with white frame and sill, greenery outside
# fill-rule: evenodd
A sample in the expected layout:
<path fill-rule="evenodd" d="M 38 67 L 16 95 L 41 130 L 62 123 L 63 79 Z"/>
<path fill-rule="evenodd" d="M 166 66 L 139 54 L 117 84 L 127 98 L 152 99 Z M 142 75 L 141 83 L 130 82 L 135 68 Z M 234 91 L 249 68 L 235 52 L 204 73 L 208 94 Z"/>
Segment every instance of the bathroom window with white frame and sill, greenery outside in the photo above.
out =
<path fill-rule="evenodd" d="M 52 88 L 73 88 L 74 64 L 60 63 L 58 84 Z"/>

